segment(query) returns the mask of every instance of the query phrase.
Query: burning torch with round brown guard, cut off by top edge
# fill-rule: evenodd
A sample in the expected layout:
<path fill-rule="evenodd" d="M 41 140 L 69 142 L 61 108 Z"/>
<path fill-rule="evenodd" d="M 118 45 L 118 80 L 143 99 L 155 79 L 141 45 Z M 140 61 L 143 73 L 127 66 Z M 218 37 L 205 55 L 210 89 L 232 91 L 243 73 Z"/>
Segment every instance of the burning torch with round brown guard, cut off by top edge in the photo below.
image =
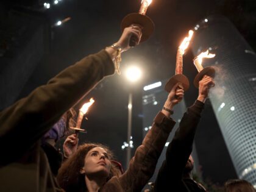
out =
<path fill-rule="evenodd" d="M 148 40 L 148 38 L 151 37 L 152 33 L 154 32 L 155 24 L 151 18 L 146 16 L 146 12 L 151 2 L 152 0 L 142 0 L 139 12 L 126 15 L 121 23 L 122 31 L 124 28 L 129 27 L 132 24 L 138 24 L 143 27 L 140 42 Z M 129 45 L 131 47 L 135 46 L 136 41 L 137 40 L 135 40 L 135 37 L 132 36 Z"/>

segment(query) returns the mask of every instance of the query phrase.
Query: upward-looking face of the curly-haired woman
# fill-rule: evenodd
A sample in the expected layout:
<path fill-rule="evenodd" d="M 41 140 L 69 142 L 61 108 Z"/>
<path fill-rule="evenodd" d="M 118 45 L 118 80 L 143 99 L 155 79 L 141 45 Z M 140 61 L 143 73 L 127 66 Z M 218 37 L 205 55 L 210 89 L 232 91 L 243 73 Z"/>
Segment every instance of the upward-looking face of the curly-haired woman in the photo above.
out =
<path fill-rule="evenodd" d="M 111 162 L 108 154 L 103 148 L 93 148 L 88 151 L 84 159 L 84 167 L 81 173 L 87 176 L 108 177 L 110 174 Z"/>

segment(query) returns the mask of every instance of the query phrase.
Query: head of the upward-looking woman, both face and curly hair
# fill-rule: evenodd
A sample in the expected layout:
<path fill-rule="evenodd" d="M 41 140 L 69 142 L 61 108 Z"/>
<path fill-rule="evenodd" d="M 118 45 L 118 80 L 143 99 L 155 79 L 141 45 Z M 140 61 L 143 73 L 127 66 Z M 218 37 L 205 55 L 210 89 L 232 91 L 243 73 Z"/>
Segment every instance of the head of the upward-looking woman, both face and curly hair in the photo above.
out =
<path fill-rule="evenodd" d="M 112 165 L 112 159 L 113 153 L 107 146 L 98 143 L 83 144 L 79 146 L 76 154 L 63 163 L 57 177 L 59 184 L 65 191 L 90 191 L 94 184 L 91 180 L 96 176 L 94 172 L 101 176 L 99 185 L 113 176 L 118 176 L 118 169 Z"/>

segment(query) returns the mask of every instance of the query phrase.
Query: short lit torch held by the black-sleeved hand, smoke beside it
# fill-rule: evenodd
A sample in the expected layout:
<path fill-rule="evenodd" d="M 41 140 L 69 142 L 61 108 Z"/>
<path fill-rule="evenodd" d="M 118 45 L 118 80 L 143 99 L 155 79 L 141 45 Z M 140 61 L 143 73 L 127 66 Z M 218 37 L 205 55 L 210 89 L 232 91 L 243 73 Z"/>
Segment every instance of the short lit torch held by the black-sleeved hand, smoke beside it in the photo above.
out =
<path fill-rule="evenodd" d="M 207 68 L 204 68 L 202 66 L 202 60 L 204 58 L 213 58 L 215 57 L 215 54 L 209 54 L 209 51 L 201 52 L 201 54 L 197 55 L 197 57 L 194 59 L 194 66 L 196 66 L 196 69 L 198 71 L 198 74 L 194 78 L 194 86 L 196 88 L 199 87 L 199 81 L 206 75 L 210 77 L 215 77 L 215 69 L 212 66 L 208 66 Z"/>

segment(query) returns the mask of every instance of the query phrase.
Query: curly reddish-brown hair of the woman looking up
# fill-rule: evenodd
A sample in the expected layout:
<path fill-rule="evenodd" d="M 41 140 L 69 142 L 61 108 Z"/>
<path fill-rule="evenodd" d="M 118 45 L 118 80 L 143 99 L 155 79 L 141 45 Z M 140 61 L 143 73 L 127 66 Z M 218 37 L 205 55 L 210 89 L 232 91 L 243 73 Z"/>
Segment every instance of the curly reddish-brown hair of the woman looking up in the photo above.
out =
<path fill-rule="evenodd" d="M 79 146 L 77 151 L 70 157 L 63 165 L 60 167 L 57 180 L 60 187 L 63 188 L 66 192 L 74 191 L 87 191 L 87 186 L 85 185 L 85 176 L 80 173 L 80 170 L 84 166 L 84 159 L 87 153 L 96 147 L 100 147 L 107 151 L 109 160 L 113 160 L 113 153 L 108 149 L 107 146 L 104 146 L 99 143 L 86 143 Z M 111 166 L 110 175 L 107 180 L 111 179 L 113 176 L 118 176 L 118 169 L 116 166 Z"/>

